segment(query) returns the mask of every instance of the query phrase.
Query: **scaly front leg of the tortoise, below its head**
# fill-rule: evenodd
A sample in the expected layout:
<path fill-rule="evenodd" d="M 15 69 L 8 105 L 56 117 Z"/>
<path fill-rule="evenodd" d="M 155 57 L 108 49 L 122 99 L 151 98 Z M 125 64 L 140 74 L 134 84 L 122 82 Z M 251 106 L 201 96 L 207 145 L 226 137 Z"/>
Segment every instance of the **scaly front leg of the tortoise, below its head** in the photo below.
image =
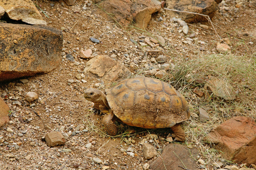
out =
<path fill-rule="evenodd" d="M 111 136 L 114 136 L 117 134 L 117 126 L 115 126 L 114 124 L 113 117 L 114 117 L 114 113 L 109 112 L 102 119 L 102 124 L 105 127 L 106 133 Z"/>

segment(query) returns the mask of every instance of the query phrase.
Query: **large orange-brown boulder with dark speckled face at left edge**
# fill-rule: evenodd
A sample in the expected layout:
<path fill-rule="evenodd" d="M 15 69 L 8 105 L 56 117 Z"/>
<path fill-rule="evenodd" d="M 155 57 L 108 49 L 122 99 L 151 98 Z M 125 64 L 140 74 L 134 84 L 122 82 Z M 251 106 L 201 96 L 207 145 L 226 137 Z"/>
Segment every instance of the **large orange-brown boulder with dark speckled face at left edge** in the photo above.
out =
<path fill-rule="evenodd" d="M 0 82 L 47 73 L 61 59 L 62 32 L 41 25 L 0 23 Z"/>

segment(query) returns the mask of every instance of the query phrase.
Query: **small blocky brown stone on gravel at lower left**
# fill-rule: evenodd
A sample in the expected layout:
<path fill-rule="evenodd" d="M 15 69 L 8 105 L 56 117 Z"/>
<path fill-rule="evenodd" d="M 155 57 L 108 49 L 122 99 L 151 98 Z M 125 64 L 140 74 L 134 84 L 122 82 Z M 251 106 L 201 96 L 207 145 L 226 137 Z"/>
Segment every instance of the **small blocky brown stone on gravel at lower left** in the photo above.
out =
<path fill-rule="evenodd" d="M 60 131 L 51 131 L 50 133 L 47 133 L 45 139 L 46 144 L 49 147 L 64 145 L 64 143 L 66 142 L 66 139 Z"/>

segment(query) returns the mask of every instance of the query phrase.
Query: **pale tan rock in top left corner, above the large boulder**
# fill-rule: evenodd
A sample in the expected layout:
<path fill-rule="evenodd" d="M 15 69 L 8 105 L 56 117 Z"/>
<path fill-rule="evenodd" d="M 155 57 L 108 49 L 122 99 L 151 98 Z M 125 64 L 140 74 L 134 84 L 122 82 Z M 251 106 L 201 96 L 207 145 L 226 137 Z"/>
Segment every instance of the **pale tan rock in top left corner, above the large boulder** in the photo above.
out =
<path fill-rule="evenodd" d="M 13 20 L 26 20 L 26 18 L 43 20 L 42 15 L 31 0 L 0 1 L 0 6 L 5 9 L 7 16 Z"/>

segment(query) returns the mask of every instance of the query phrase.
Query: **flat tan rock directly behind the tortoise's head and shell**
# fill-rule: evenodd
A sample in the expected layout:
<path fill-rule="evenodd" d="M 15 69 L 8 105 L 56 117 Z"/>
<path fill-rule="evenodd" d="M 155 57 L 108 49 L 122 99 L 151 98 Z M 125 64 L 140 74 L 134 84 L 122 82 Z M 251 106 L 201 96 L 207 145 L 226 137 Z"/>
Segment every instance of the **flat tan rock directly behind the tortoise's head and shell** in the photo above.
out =
<path fill-rule="evenodd" d="M 131 75 L 130 70 L 108 56 L 96 56 L 86 62 L 84 72 L 103 78 L 105 84 Z"/>

